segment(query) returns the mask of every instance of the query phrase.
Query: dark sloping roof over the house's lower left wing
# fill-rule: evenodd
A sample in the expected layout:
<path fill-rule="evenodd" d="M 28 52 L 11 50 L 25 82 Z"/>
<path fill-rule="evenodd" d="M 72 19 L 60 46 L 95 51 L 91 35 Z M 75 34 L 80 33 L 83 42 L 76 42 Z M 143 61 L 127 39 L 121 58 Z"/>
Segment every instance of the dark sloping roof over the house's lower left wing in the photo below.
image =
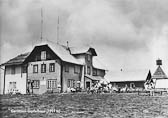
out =
<path fill-rule="evenodd" d="M 18 55 L 16 57 L 10 59 L 9 61 L 3 63 L 2 65 L 6 66 L 6 65 L 19 65 L 19 64 L 22 64 L 29 54 L 30 54 L 29 52 L 24 53 L 24 54 L 20 54 L 20 55 Z"/>

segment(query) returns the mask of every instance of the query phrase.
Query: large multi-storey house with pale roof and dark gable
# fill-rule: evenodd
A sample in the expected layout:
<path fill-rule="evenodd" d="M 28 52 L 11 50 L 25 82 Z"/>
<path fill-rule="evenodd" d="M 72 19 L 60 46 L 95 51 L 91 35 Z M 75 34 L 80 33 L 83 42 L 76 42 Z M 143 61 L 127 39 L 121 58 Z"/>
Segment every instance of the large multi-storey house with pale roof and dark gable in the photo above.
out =
<path fill-rule="evenodd" d="M 91 87 L 93 82 L 104 79 L 106 71 L 95 64 L 95 56 L 92 47 L 75 48 L 49 42 L 36 45 L 31 52 L 1 65 L 5 67 L 3 93 L 42 94 Z"/>

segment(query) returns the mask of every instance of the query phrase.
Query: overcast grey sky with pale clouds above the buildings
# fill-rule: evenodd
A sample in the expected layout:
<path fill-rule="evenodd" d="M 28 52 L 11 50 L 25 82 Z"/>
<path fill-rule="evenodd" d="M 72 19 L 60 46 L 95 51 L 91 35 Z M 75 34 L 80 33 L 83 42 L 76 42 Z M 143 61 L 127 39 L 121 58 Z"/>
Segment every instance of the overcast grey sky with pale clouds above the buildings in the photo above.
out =
<path fill-rule="evenodd" d="M 70 46 L 91 45 L 109 75 L 154 73 L 163 60 L 168 73 L 168 0 L 1 0 L 0 63 L 31 51 L 43 37 Z M 111 78 L 110 78 L 111 79 Z"/>

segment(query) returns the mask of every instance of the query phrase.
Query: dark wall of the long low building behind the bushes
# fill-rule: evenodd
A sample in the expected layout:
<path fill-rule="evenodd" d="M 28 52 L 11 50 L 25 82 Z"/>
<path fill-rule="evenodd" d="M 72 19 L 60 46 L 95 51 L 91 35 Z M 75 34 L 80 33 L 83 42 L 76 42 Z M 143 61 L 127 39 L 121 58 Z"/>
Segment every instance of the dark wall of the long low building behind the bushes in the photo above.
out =
<path fill-rule="evenodd" d="M 117 87 L 127 87 L 132 88 L 131 84 L 134 85 L 135 88 L 144 88 L 145 81 L 125 81 L 125 82 L 110 82 L 112 86 Z"/>

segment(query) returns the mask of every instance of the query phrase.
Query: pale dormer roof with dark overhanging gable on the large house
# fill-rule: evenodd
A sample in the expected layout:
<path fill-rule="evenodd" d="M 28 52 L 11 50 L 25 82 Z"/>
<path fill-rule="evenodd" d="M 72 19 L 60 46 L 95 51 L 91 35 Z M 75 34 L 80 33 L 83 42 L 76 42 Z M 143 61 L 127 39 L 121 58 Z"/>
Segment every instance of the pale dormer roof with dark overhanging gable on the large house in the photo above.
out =
<path fill-rule="evenodd" d="M 70 52 L 71 54 L 84 54 L 88 53 L 88 51 L 91 50 L 93 56 L 97 56 L 97 53 L 94 48 L 89 47 L 89 46 L 84 46 L 84 47 L 70 47 Z"/>

